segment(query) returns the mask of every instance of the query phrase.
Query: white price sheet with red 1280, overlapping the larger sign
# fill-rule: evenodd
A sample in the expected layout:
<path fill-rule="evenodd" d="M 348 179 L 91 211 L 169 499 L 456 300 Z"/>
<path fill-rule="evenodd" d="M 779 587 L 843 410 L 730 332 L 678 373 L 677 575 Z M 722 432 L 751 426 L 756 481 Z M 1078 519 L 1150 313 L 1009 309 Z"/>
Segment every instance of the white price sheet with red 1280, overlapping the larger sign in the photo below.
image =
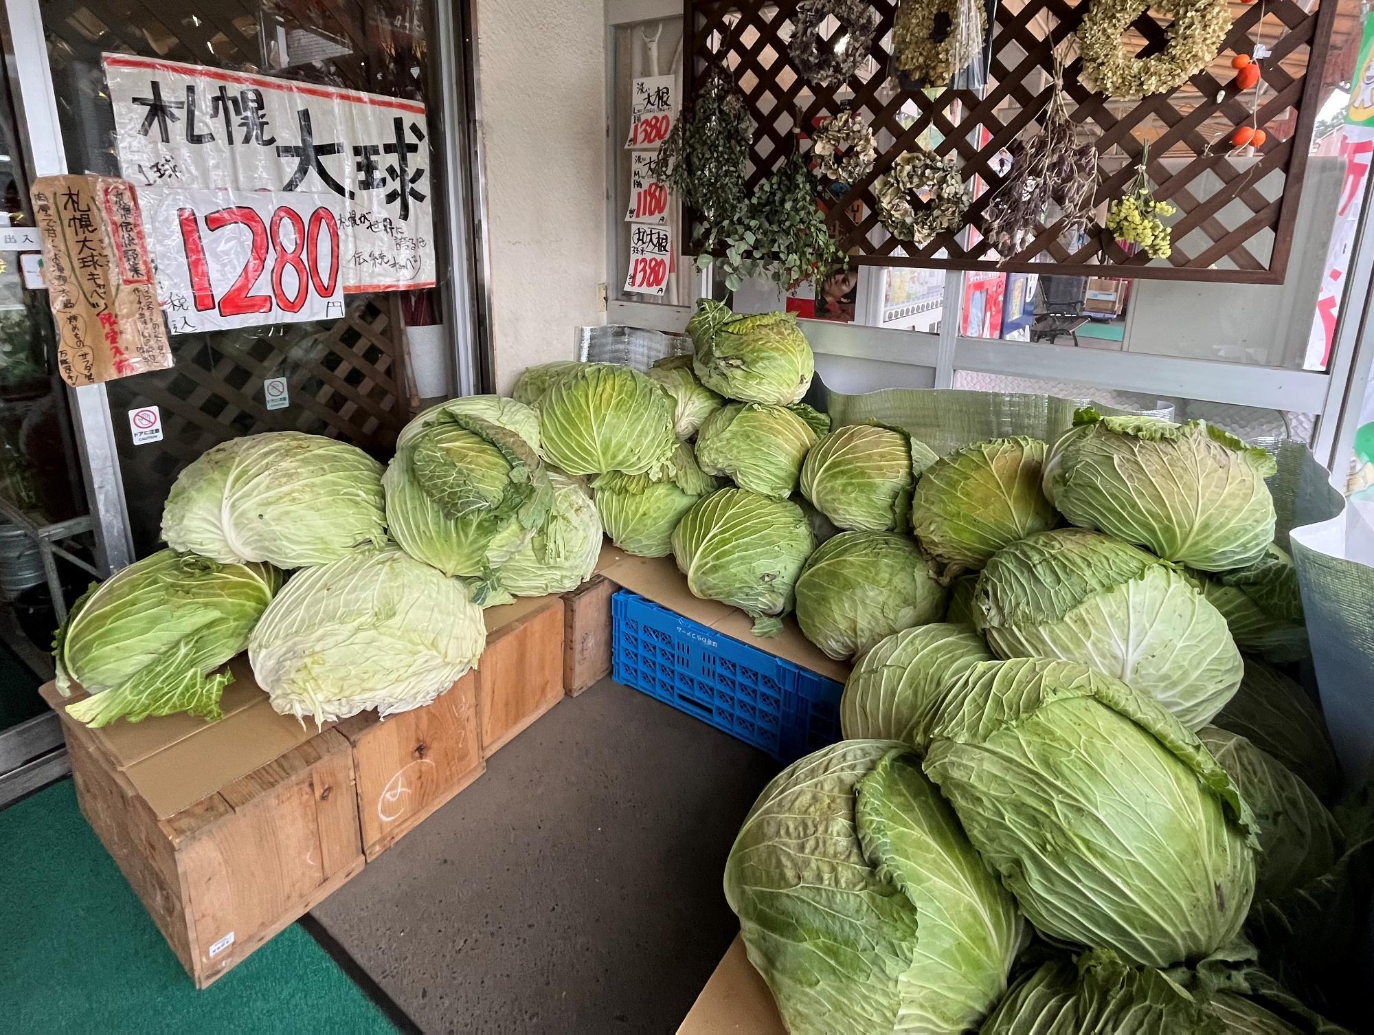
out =
<path fill-rule="evenodd" d="M 173 334 L 344 316 L 330 195 L 148 188 L 139 197 Z"/>

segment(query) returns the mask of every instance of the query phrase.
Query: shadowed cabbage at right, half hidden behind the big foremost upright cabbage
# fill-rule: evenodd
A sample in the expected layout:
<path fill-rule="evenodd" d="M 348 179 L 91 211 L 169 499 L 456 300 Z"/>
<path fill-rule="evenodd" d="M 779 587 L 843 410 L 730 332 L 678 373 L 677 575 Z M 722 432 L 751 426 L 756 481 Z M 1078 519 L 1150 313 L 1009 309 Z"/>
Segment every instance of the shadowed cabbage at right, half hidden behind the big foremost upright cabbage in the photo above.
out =
<path fill-rule="evenodd" d="M 1307 783 L 1237 733 L 1204 726 L 1198 739 L 1230 774 L 1260 825 L 1257 898 L 1283 895 L 1336 865 L 1341 832 Z"/>

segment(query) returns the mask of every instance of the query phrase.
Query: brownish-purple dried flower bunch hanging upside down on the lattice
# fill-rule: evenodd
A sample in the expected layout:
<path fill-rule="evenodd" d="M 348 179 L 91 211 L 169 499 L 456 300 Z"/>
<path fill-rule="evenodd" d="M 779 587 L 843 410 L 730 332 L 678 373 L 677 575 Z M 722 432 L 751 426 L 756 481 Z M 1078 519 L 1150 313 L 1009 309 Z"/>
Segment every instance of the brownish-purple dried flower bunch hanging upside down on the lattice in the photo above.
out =
<path fill-rule="evenodd" d="M 1059 223 L 1059 234 L 1081 232 L 1094 223 L 1098 151 L 1092 143 L 1079 143 L 1062 71 L 1061 65 L 1040 132 L 1007 147 L 1011 165 L 988 203 L 982 234 L 1003 258 L 1028 247 L 1052 223 Z"/>

